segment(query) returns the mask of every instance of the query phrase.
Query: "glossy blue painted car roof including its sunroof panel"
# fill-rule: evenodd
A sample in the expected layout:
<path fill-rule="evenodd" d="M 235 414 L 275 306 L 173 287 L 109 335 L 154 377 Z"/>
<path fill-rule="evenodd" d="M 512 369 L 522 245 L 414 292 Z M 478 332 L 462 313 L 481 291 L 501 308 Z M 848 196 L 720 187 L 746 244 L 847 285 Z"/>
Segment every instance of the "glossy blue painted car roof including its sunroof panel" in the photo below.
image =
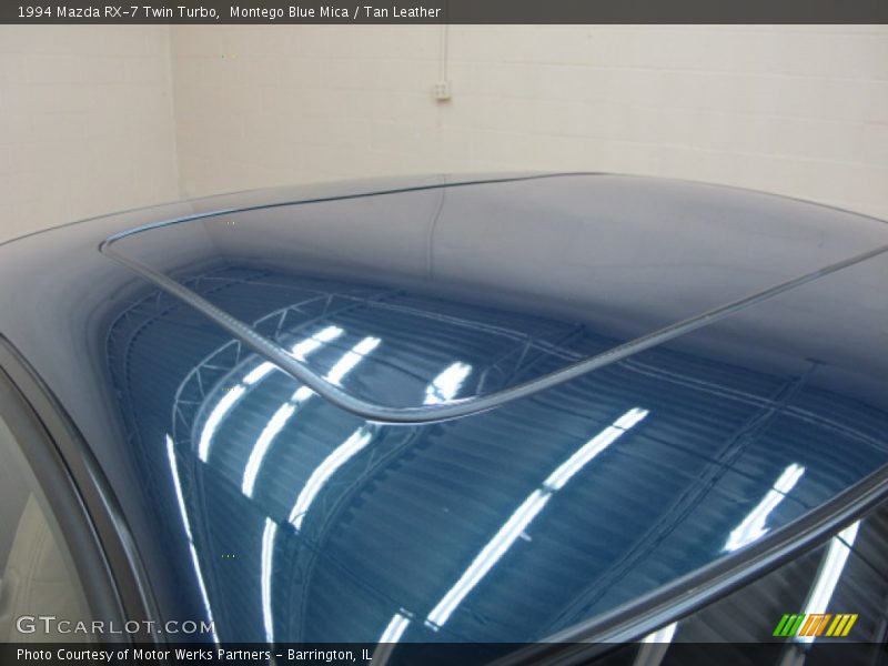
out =
<path fill-rule="evenodd" d="M 230 205 L 0 246 L 0 274 L 33 285 L 0 294 L 3 334 L 94 447 L 162 612 L 212 615 L 222 639 L 541 639 L 888 462 L 884 255 L 497 410 L 397 426 L 312 395 L 94 250 Z M 414 406 L 886 242 L 881 222 L 801 202 L 573 175 L 213 214 L 121 246 L 355 395 Z"/>

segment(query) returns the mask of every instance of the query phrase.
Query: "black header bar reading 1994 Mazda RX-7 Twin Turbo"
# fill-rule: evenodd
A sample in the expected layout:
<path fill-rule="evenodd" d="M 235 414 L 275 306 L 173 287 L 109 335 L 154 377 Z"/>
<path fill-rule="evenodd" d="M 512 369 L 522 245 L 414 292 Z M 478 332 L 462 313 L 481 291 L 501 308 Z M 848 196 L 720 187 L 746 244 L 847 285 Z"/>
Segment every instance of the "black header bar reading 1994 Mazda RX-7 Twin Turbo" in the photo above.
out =
<path fill-rule="evenodd" d="M 0 23 L 888 23 L 888 0 L 12 0 Z"/>

